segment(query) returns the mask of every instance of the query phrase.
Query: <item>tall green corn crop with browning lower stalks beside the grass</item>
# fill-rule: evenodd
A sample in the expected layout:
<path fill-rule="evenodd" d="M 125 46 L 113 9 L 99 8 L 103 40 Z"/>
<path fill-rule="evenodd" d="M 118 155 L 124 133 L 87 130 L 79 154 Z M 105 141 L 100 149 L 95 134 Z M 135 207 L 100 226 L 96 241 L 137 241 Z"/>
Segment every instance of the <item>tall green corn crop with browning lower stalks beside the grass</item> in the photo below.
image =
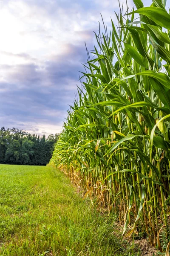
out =
<path fill-rule="evenodd" d="M 51 162 L 119 214 L 123 235 L 170 246 L 170 15 L 166 0 L 103 23 Z M 137 18 L 136 18 L 137 17 Z"/>

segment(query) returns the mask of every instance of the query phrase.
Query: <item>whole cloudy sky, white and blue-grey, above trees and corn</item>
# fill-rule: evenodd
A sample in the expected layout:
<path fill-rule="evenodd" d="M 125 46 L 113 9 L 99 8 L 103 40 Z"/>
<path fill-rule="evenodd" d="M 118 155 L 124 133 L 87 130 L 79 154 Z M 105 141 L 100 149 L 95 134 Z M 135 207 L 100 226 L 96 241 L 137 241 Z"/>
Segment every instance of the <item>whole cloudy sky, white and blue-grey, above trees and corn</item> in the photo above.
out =
<path fill-rule="evenodd" d="M 114 12 L 118 0 L 0 0 L 0 127 L 62 131 L 87 61 L 85 42 L 94 49 L 100 13 L 109 28 Z"/>

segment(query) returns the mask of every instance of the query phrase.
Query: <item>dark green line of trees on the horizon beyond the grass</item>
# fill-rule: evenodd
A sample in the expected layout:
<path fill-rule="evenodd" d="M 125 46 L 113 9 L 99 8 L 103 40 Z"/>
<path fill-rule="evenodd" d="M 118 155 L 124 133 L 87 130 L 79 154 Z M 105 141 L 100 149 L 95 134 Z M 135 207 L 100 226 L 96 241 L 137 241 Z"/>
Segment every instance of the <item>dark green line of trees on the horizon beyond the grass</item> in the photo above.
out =
<path fill-rule="evenodd" d="M 46 165 L 51 159 L 59 134 L 30 134 L 17 128 L 0 129 L 0 163 Z"/>

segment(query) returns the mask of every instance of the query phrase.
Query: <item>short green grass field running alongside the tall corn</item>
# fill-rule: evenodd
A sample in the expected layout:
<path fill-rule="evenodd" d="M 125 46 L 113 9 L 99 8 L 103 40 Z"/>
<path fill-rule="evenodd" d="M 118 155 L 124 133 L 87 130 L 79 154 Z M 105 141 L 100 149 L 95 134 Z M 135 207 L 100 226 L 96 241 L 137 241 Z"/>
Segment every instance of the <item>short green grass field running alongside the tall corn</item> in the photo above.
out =
<path fill-rule="evenodd" d="M 131 255 L 52 166 L 0 165 L 0 256 Z"/>

